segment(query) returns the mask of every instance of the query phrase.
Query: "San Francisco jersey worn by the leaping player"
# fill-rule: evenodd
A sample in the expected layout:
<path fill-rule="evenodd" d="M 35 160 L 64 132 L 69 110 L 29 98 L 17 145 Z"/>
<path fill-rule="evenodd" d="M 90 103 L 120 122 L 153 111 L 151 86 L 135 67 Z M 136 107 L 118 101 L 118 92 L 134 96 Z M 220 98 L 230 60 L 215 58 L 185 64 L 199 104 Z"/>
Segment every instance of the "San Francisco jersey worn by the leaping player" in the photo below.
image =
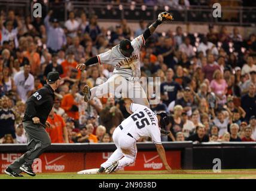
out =
<path fill-rule="evenodd" d="M 143 35 L 139 35 L 131 42 L 133 52 L 130 57 L 121 54 L 119 45 L 111 50 L 97 55 L 99 64 L 105 63 L 114 66 L 114 74 L 123 76 L 124 78 L 141 77 L 141 64 L 139 63 L 139 51 L 142 45 L 145 45 Z"/>

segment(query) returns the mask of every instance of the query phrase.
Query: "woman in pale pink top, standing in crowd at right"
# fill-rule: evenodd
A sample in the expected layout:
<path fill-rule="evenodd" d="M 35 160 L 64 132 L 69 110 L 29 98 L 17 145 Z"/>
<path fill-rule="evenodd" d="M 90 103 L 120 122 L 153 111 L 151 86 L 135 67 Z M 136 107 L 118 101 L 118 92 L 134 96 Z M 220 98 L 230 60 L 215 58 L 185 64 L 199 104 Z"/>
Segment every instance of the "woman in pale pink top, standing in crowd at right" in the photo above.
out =
<path fill-rule="evenodd" d="M 226 103 L 226 96 L 227 94 L 227 82 L 223 79 L 223 74 L 221 70 L 215 70 L 213 75 L 213 80 L 211 81 L 210 87 L 214 94 L 218 97 L 217 103 L 218 104 L 225 104 Z"/>

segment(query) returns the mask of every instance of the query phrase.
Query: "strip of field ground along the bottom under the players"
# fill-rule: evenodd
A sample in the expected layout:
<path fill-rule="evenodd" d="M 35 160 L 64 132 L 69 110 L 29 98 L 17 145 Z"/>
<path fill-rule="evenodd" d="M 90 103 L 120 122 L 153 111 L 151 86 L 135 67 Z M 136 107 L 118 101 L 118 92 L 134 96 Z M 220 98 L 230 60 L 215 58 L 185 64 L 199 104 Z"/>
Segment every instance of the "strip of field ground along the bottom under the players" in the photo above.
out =
<path fill-rule="evenodd" d="M 78 175 L 69 173 L 38 173 L 35 177 L 24 174 L 19 179 L 223 179 L 223 178 L 256 178 L 256 170 L 223 170 L 219 173 L 205 170 L 190 171 L 125 171 L 113 174 Z M 10 179 L 6 174 L 0 174 L 0 179 Z"/>

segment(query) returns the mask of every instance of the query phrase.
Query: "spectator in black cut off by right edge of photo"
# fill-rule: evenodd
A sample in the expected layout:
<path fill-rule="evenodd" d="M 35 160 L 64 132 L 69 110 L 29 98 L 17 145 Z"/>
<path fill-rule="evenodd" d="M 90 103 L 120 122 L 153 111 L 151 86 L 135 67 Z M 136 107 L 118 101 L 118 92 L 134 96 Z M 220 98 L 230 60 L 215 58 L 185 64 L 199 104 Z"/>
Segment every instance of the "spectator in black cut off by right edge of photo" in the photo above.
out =
<path fill-rule="evenodd" d="M 241 106 L 246 112 L 245 120 L 248 122 L 251 116 L 256 113 L 256 87 L 254 84 L 251 83 L 248 94 L 242 96 Z"/>

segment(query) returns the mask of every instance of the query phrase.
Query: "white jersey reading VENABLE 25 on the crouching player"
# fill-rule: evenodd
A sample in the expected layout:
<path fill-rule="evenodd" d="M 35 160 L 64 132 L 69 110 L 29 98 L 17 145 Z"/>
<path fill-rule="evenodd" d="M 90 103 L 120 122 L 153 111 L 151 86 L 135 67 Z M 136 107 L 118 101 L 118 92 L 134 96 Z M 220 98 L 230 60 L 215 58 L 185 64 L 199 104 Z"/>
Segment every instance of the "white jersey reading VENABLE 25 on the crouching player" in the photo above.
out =
<path fill-rule="evenodd" d="M 153 143 L 161 144 L 161 133 L 156 114 L 146 106 L 132 103 L 130 110 L 133 112 L 121 122 L 124 133 L 130 133 L 136 140 L 141 137 L 151 137 Z M 119 128 L 119 127 L 118 127 Z"/>

